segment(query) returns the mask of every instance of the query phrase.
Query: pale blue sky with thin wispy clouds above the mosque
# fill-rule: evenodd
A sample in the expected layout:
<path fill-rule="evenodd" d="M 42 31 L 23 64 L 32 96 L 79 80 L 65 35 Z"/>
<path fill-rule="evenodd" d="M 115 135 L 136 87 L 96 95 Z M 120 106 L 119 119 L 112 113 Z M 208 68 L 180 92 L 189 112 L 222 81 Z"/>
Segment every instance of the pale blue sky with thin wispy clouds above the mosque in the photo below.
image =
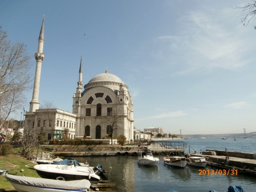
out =
<path fill-rule="evenodd" d="M 235 8 L 248 2 L 1 0 L 0 26 L 26 44 L 34 78 L 45 15 L 40 104 L 72 112 L 82 56 L 84 85 L 107 68 L 129 87 L 138 130 L 254 132 L 256 21 L 243 26 Z M 29 110 L 32 90 L 26 98 Z"/>

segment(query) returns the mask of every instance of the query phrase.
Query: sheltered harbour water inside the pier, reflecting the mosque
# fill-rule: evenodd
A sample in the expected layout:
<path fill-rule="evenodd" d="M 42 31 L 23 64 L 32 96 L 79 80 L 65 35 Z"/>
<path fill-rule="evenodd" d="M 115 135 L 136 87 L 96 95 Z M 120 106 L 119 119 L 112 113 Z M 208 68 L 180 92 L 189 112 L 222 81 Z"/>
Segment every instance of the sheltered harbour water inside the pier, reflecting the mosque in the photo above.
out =
<path fill-rule="evenodd" d="M 110 180 L 116 184 L 111 191 L 118 192 L 208 192 L 212 189 L 224 191 L 230 185 L 240 185 L 245 191 L 255 191 L 256 178 L 237 175 L 199 175 L 192 166 L 173 168 L 160 161 L 157 166 L 138 165 L 138 157 L 77 157 L 78 162 L 89 162 L 90 166 L 102 164 Z M 211 169 L 211 167 L 207 167 Z M 214 168 L 216 169 L 216 168 Z"/>

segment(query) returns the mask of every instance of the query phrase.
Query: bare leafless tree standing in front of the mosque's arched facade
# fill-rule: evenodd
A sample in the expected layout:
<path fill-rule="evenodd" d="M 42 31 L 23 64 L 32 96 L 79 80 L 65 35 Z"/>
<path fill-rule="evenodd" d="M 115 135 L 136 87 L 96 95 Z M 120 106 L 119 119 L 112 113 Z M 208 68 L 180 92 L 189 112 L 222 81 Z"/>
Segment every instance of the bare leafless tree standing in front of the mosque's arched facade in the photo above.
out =
<path fill-rule="evenodd" d="M 107 137 L 111 137 L 111 143 L 113 144 L 113 133 L 114 131 L 121 129 L 120 125 L 123 124 L 122 117 L 124 113 L 119 113 L 117 108 L 112 109 L 110 115 L 106 116 L 107 126 Z"/>

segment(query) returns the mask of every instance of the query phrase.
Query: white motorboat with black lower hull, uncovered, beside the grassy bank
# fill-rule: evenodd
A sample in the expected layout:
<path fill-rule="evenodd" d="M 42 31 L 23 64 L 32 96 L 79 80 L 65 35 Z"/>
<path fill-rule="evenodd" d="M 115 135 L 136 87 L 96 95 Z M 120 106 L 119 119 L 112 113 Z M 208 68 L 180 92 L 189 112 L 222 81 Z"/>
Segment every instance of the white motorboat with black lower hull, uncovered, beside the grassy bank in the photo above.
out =
<path fill-rule="evenodd" d="M 72 162 L 61 164 L 38 164 L 34 169 L 42 178 L 56 180 L 89 180 L 92 184 L 98 184 L 100 176 L 95 174 L 92 167 L 76 166 Z"/>

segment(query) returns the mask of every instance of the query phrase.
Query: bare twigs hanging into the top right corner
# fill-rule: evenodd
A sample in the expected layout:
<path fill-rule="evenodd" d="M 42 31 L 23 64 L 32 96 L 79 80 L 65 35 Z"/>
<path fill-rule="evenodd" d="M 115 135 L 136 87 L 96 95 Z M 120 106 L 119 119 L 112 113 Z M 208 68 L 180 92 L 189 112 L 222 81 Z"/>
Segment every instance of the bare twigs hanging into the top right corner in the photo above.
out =
<path fill-rule="evenodd" d="M 241 23 L 244 25 L 248 25 L 249 22 L 254 18 L 256 15 L 256 0 L 251 0 L 246 6 L 236 8 L 242 9 L 242 18 Z M 256 29 L 256 26 L 253 26 Z"/>

